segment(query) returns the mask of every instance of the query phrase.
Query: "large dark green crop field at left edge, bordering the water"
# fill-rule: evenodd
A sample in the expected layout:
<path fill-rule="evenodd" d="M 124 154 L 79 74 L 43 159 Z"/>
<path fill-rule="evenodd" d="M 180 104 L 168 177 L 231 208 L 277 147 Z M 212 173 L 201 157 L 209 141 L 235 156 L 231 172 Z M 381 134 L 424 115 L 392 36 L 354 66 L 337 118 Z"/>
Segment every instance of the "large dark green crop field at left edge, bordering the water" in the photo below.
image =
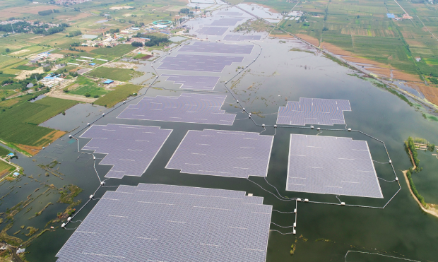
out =
<path fill-rule="evenodd" d="M 21 145 L 37 147 L 47 145 L 51 139 L 47 135 L 54 132 L 54 129 L 37 125 L 77 103 L 53 97 L 45 97 L 35 102 L 17 103 L 5 112 L 0 112 L 0 139 Z"/>

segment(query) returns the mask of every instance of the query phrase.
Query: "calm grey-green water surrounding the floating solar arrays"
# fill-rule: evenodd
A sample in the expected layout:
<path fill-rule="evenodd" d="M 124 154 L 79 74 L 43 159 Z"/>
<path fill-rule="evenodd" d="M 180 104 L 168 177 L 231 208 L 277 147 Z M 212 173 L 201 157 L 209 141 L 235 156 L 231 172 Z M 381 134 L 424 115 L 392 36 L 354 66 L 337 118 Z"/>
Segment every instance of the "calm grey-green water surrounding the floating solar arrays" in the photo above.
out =
<path fill-rule="evenodd" d="M 253 112 L 267 114 L 263 118 L 255 117 L 254 120 L 259 124 L 275 124 L 275 114 L 279 106 L 284 106 L 287 100 L 297 101 L 300 97 L 317 97 L 331 99 L 350 100 L 352 112 L 345 112 L 345 121 L 348 128 L 359 129 L 371 136 L 379 138 L 386 143 L 394 168 L 400 178 L 402 190 L 397 194 L 393 201 L 384 210 L 372 208 L 354 208 L 347 206 L 331 206 L 314 203 L 298 203 L 297 213 L 297 234 L 281 235 L 271 232 L 268 242 L 268 255 L 266 261 L 344 261 L 345 253 L 349 249 L 363 251 L 385 251 L 394 256 L 405 256 L 420 261 L 436 261 L 438 258 L 437 238 L 438 238 L 438 218 L 422 213 L 418 204 L 413 200 L 408 191 L 403 174 L 400 170 L 408 169 L 410 162 L 408 155 L 403 147 L 403 141 L 408 136 L 426 138 L 432 143 L 438 144 L 437 123 L 429 122 L 422 118 L 420 112 L 416 112 L 413 107 L 409 107 L 395 95 L 391 95 L 381 90 L 367 81 L 362 81 L 354 76 L 353 73 L 324 56 L 309 54 L 307 52 L 289 51 L 295 47 L 302 47 L 298 42 L 288 41 L 280 43 L 278 40 L 265 40 L 260 42 L 263 52 L 259 59 L 251 65 L 250 71 L 244 73 L 240 78 L 235 78 L 236 85 L 232 88 L 233 92 L 244 107 Z M 223 73 L 208 73 L 208 75 L 221 76 L 221 81 L 228 81 L 230 76 L 235 73 L 237 66 L 249 64 L 256 58 L 260 47 L 254 47 L 254 52 L 247 56 L 242 64 L 233 64 L 223 71 Z M 169 73 L 160 71 L 159 73 Z M 191 72 L 192 74 L 199 74 Z M 144 81 L 146 79 L 143 79 Z M 149 89 L 148 95 L 179 95 L 178 85 L 171 82 L 160 81 L 154 86 L 175 90 Z M 143 92 L 141 93 L 144 93 Z M 223 83 L 216 85 L 215 91 L 224 92 Z M 239 112 L 235 107 L 235 101 L 228 95 L 223 109 L 227 112 Z M 225 177 L 210 177 L 196 174 L 180 174 L 179 170 L 165 169 L 165 165 L 182 141 L 185 133 L 190 129 L 225 129 L 236 131 L 261 132 L 261 127 L 255 126 L 252 121 L 247 119 L 244 114 L 237 114 L 237 119 L 233 126 L 212 126 L 203 124 L 170 123 L 159 121 L 140 121 L 129 119 L 116 119 L 124 107 L 120 107 L 111 114 L 97 121 L 96 124 L 138 124 L 161 126 L 164 129 L 173 129 L 170 137 L 163 145 L 162 149 L 151 163 L 150 167 L 142 177 L 124 177 L 124 179 L 110 179 L 107 185 L 138 183 L 158 183 L 175 184 L 184 186 L 201 186 L 219 189 L 231 189 L 254 193 L 254 196 L 264 196 L 264 204 L 273 205 L 273 208 L 281 211 L 292 211 L 294 203 L 278 201 L 277 198 L 258 186 L 245 179 L 233 179 Z M 87 115 L 88 108 L 76 108 L 77 114 Z M 99 110 L 97 110 L 98 112 Z M 94 111 L 94 114 L 97 112 Z M 69 113 L 68 111 L 66 113 Z M 68 116 L 69 114 L 66 114 Z M 66 125 L 65 130 L 71 130 L 71 126 L 85 126 L 90 117 L 83 120 L 72 120 L 71 118 L 58 117 L 57 124 Z M 69 124 L 69 121 L 76 121 L 76 124 Z M 50 126 L 50 124 L 49 124 Z M 324 126 L 323 126 L 324 127 Z M 331 128 L 331 127 L 329 127 Z M 345 126 L 333 126 L 334 128 L 345 128 Z M 273 129 L 267 129 L 264 134 L 273 135 Z M 285 181 L 288 167 L 288 143 L 290 133 L 316 134 L 316 131 L 303 129 L 278 129 L 271 155 L 271 162 L 268 169 L 268 181 L 276 186 L 283 196 L 309 198 L 311 201 L 326 201 L 336 203 L 335 196 L 318 195 L 312 193 L 286 192 Z M 374 160 L 385 162 L 386 153 L 381 143 L 360 135 L 347 131 L 324 131 L 320 136 L 349 136 L 354 139 L 367 140 Z M 81 146 L 88 140 L 81 139 Z M 73 142 L 73 143 L 72 143 Z M 100 158 L 104 155 L 100 155 Z M 438 203 L 437 193 L 437 174 L 438 159 L 430 153 L 419 153 L 421 165 L 424 167 L 420 174 L 414 175 L 415 184 L 418 190 L 425 196 L 429 203 Z M 61 162 L 59 171 L 65 174 L 64 180 L 57 177 L 45 177 L 45 174 L 38 163 L 47 164 L 53 159 Z M 35 159 L 36 162 L 32 162 Z M 77 144 L 68 138 L 61 138 L 48 146 L 36 157 L 20 157 L 14 160 L 25 169 L 25 174 L 32 175 L 38 181 L 47 181 L 54 184 L 57 188 L 65 184 L 76 184 L 84 189 L 79 198 L 85 202 L 90 193 L 93 193 L 98 186 L 98 180 L 93 170 L 93 161 L 86 156 L 81 156 L 77 152 Z M 393 173 L 389 165 L 375 164 L 379 177 L 393 179 Z M 109 170 L 109 166 L 97 165 L 97 171 L 103 177 Z M 38 177 L 38 174 L 42 174 Z M 251 180 L 264 186 L 265 189 L 275 191 L 266 184 L 263 178 L 251 177 Z M 28 183 L 28 184 L 25 184 Z M 23 177 L 19 181 L 3 182 L 0 186 L 1 194 L 12 190 L 3 199 L 0 212 L 6 208 L 16 205 L 25 200 L 30 193 L 37 195 L 45 189 L 40 189 L 37 193 L 33 191 L 41 187 L 41 182 L 37 182 L 29 177 Z M 341 200 L 349 204 L 384 206 L 389 198 L 398 190 L 396 183 L 380 181 L 384 199 L 367 199 L 341 196 Z M 15 186 L 11 189 L 11 186 Z M 21 188 L 18 188 L 21 186 Z M 17 192 L 17 193 L 16 193 Z M 105 193 L 104 189 L 97 192 L 97 197 Z M 19 230 L 20 225 L 26 227 L 32 225 L 40 229 L 44 228 L 47 221 L 53 219 L 56 213 L 67 205 L 55 204 L 49 206 L 42 215 L 29 220 L 35 212 L 41 210 L 48 202 L 55 203 L 59 195 L 50 193 L 49 196 L 41 196 L 33 202 L 32 210 L 23 214 L 22 210 L 16 215 L 16 221 L 9 234 Z M 92 202 L 78 213 L 76 218 L 82 220 L 93 208 Z M 75 219 L 76 219 L 75 218 Z M 272 222 L 279 225 L 292 225 L 295 221 L 290 214 L 273 213 Z M 2 224 L 5 225 L 6 223 Z M 69 227 L 76 225 L 70 224 Z M 289 232 L 279 229 L 272 225 L 271 229 Z M 109 225 L 110 230 L 110 225 Z M 66 242 L 73 230 L 57 229 L 54 232 L 47 232 L 38 238 L 27 250 L 29 261 L 56 261 L 54 257 L 61 246 Z M 307 242 L 303 242 L 300 235 L 303 235 Z M 25 237 L 22 234 L 17 236 Z M 316 239 L 330 239 L 330 242 L 315 242 Z M 298 239 L 297 249 L 293 256 L 290 256 L 290 245 Z M 349 254 L 348 261 L 399 261 L 390 260 L 373 255 Z"/>

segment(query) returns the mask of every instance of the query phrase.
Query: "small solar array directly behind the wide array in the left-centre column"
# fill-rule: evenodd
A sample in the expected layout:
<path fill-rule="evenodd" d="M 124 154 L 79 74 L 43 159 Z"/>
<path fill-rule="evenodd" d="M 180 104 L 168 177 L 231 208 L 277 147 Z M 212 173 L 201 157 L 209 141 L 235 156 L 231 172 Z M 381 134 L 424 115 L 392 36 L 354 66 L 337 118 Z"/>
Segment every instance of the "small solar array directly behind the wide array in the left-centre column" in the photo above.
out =
<path fill-rule="evenodd" d="M 184 75 L 167 75 L 163 73 L 162 77 L 167 77 L 166 81 L 173 81 L 181 84 L 181 89 L 195 90 L 213 90 L 219 81 L 219 76 L 184 76 Z"/>

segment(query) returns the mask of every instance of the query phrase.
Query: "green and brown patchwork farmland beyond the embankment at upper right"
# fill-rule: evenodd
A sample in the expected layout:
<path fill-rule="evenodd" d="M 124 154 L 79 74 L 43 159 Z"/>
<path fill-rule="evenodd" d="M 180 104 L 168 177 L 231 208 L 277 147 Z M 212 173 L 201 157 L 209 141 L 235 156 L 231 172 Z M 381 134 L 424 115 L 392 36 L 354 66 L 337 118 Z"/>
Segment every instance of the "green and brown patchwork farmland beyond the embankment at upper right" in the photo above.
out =
<path fill-rule="evenodd" d="M 283 20 L 278 27 L 348 61 L 371 64 L 371 71 L 386 78 L 422 82 L 438 76 L 437 40 L 432 36 L 438 33 L 438 8 L 398 3 L 412 19 L 402 18 L 404 12 L 395 1 L 318 0 L 295 6 L 306 12 L 304 18 Z M 266 5 L 276 9 L 273 3 Z M 386 13 L 400 19 L 387 18 Z"/>

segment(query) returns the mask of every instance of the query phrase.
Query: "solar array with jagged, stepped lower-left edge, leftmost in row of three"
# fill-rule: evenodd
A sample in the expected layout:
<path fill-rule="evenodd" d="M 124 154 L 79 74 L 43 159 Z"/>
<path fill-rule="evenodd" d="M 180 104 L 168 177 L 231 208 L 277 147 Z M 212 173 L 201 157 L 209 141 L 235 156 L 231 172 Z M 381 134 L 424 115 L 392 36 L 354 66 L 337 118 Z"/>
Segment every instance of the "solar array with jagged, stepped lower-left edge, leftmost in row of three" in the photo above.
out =
<path fill-rule="evenodd" d="M 158 126 L 93 125 L 81 138 L 93 138 L 82 149 L 107 154 L 100 165 L 113 167 L 105 177 L 141 177 L 172 130 Z"/>

